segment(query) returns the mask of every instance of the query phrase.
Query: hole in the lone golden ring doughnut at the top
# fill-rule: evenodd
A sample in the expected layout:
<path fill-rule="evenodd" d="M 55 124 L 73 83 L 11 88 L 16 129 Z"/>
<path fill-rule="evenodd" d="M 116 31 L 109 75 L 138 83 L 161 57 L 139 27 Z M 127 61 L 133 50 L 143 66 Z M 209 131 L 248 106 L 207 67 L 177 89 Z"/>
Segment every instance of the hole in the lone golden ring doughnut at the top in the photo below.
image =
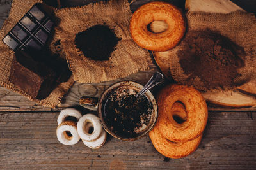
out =
<path fill-rule="evenodd" d="M 168 29 L 168 24 L 164 20 L 155 20 L 147 25 L 148 31 L 152 33 L 161 33 Z"/>

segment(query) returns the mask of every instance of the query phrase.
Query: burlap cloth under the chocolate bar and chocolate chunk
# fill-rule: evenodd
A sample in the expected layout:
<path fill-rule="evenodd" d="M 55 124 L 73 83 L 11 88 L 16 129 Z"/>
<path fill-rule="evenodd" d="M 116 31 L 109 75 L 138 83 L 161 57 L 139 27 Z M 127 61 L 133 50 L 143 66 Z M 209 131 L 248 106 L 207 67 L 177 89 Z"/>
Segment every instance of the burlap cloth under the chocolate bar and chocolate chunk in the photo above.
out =
<path fill-rule="evenodd" d="M 3 37 L 12 29 L 12 27 L 15 24 L 17 24 L 17 22 L 19 22 L 19 20 L 35 3 L 42 3 L 42 1 L 12 1 L 12 8 L 10 10 L 9 17 L 5 20 L 3 27 L 0 30 L 0 39 L 3 39 Z M 44 8 L 49 13 L 52 13 L 54 10 L 56 10 L 46 5 L 44 5 Z M 53 39 L 56 38 L 54 37 Z M 56 51 L 52 49 L 52 52 Z M 52 108 L 54 108 L 55 106 L 60 106 L 61 98 L 74 83 L 72 76 L 69 78 L 67 82 L 60 83 L 54 90 L 52 90 L 51 94 L 49 94 L 48 97 L 42 100 L 38 100 L 34 97 L 29 96 L 26 92 L 24 92 L 24 90 L 20 89 L 19 87 L 16 87 L 13 83 L 10 83 L 8 78 L 10 75 L 13 57 L 13 50 L 11 50 L 7 45 L 5 45 L 3 41 L 0 41 L 0 85 L 6 87 L 7 89 L 13 90 L 14 92 L 18 92 L 19 94 L 28 97 L 28 99 L 35 101 L 38 104 L 42 104 L 44 106 L 49 106 Z"/>

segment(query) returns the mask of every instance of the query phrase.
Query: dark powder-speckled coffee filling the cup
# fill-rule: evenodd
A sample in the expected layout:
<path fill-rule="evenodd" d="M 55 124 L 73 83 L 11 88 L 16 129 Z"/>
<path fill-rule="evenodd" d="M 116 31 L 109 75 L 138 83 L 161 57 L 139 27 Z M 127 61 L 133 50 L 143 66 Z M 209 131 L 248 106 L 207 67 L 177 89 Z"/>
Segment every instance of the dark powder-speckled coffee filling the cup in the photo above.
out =
<path fill-rule="evenodd" d="M 111 131 L 118 136 L 134 138 L 140 135 L 143 126 L 150 123 L 152 111 L 152 103 L 145 95 L 137 96 L 131 94 L 129 89 L 124 89 L 109 94 L 102 112 Z"/>

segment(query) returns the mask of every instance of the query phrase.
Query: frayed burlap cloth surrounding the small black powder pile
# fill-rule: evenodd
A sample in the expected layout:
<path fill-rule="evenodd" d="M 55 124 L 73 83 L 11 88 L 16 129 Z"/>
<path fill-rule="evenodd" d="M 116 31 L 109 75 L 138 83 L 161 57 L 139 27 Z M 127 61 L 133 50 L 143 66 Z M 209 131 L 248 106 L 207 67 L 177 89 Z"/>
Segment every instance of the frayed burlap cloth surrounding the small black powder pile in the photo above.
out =
<path fill-rule="evenodd" d="M 61 39 L 74 80 L 81 83 L 97 83 L 149 69 L 152 63 L 150 54 L 132 41 L 129 32 L 131 16 L 127 0 L 100 1 L 56 11 L 56 17 L 60 19 L 56 36 Z M 106 61 L 88 59 L 75 45 L 78 32 L 98 24 L 108 25 L 110 29 L 114 29 L 118 38 L 122 38 Z"/>

